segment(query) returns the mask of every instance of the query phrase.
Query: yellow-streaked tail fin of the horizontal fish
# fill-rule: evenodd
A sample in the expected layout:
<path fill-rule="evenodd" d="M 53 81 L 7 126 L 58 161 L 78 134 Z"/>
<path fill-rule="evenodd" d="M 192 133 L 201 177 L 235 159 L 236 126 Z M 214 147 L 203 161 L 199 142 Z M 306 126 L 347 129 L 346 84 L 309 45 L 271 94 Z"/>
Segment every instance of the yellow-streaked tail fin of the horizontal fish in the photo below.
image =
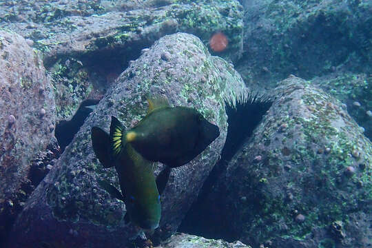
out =
<path fill-rule="evenodd" d="M 121 153 L 125 145 L 123 144 L 123 132 L 124 126 L 121 124 L 121 122 L 114 116 L 111 116 L 110 149 L 114 158 Z"/>

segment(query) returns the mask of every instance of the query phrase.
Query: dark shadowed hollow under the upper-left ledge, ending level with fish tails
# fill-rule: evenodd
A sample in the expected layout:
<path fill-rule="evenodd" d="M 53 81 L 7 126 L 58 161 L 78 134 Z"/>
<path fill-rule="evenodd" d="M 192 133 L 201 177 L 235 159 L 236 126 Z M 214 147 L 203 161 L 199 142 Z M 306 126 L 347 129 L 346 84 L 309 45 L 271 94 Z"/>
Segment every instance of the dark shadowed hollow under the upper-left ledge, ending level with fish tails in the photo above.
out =
<path fill-rule="evenodd" d="M 56 63 L 61 63 L 61 65 L 65 66 L 66 72 L 61 76 L 65 76 L 67 79 L 73 77 L 79 70 L 86 70 L 87 81 L 93 86 L 89 96 L 91 99 L 82 101 L 79 109 L 76 110 L 70 120 L 59 120 L 56 124 L 55 136 L 61 147 L 61 152 L 71 143 L 74 135 L 79 132 L 85 119 L 93 111 L 92 106 L 99 103 L 103 94 L 110 88 L 121 72 L 130 65 L 130 61 L 137 59 L 141 54 L 141 50 L 151 45 L 152 42 L 149 40 L 134 41 L 126 45 L 125 48 L 116 45 L 112 48 L 103 48 L 74 56 L 70 59 L 66 56 L 61 56 L 61 59 L 46 59 L 45 64 L 48 65 L 48 70 Z M 76 61 L 81 63 L 81 67 L 76 65 Z"/>

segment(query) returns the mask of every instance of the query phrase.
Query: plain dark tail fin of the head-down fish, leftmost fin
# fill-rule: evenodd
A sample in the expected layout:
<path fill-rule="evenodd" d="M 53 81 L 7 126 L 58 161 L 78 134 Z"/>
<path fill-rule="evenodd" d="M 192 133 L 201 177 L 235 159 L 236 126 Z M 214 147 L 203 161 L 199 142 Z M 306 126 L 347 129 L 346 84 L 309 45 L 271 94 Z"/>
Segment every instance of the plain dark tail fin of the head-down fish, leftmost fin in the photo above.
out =
<path fill-rule="evenodd" d="M 110 168 L 114 163 L 110 156 L 110 138 L 109 135 L 99 127 L 92 127 L 92 146 L 103 167 Z"/>

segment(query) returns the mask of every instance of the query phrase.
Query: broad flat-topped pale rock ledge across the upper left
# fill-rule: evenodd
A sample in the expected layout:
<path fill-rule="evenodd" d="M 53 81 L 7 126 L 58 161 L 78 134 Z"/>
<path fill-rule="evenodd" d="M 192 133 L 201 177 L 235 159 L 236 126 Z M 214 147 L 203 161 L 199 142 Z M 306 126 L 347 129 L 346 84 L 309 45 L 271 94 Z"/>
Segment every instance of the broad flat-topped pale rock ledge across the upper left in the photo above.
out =
<path fill-rule="evenodd" d="M 52 54 L 125 48 L 128 41 L 152 43 L 176 30 L 204 42 L 213 32 L 229 37 L 227 53 L 238 59 L 242 46 L 242 6 L 238 1 L 22 1 L 1 4 L 1 27 L 17 29 Z M 157 38 L 156 38 L 157 37 Z"/>

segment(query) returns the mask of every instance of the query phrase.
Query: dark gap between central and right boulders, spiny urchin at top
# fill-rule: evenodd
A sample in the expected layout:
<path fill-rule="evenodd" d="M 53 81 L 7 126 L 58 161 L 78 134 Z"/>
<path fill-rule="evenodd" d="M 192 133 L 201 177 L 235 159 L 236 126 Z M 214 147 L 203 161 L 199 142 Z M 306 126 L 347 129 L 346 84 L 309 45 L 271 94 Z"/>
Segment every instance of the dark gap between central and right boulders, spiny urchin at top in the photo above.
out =
<path fill-rule="evenodd" d="M 222 238 L 228 242 L 238 239 L 238 234 L 229 228 L 229 219 L 225 214 L 228 209 L 220 204 L 219 198 L 223 198 L 225 191 L 223 184 L 216 185 L 216 180 L 221 179 L 227 169 L 231 158 L 242 148 L 262 117 L 271 107 L 272 101 L 258 94 L 250 94 L 247 97 L 237 99 L 236 105 L 225 104 L 228 116 L 227 137 L 223 147 L 220 161 L 211 170 L 203 187 L 200 189 L 197 200 L 193 203 L 181 223 L 178 231 L 203 236 L 205 238 Z M 214 188 L 218 190 L 218 198 L 208 198 Z M 215 196 L 212 196 L 215 197 Z"/>

